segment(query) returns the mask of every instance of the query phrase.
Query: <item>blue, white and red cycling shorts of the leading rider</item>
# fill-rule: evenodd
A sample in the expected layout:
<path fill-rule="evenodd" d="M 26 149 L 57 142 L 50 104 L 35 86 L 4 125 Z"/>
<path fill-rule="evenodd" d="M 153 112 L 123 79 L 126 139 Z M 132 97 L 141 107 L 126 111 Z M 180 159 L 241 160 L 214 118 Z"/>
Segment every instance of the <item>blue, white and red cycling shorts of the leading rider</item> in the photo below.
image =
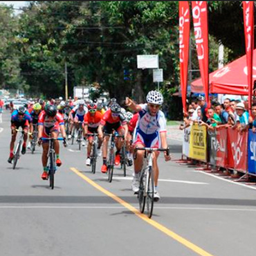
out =
<path fill-rule="evenodd" d="M 136 129 L 134 133 L 133 145 L 142 144 L 144 147 L 161 147 L 161 140 L 158 131 L 154 134 L 145 134 L 140 129 Z"/>

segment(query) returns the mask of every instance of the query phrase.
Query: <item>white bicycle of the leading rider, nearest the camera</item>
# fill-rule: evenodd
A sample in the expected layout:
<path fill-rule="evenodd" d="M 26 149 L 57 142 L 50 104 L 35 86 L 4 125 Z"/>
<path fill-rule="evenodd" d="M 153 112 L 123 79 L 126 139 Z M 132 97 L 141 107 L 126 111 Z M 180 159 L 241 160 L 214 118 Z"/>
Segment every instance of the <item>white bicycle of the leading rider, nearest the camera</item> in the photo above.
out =
<path fill-rule="evenodd" d="M 152 217 L 154 208 L 154 170 L 153 170 L 153 155 L 154 151 L 166 152 L 169 156 L 169 148 L 157 149 L 152 147 L 136 147 L 134 150 L 134 159 L 136 159 L 136 152 L 144 150 L 143 169 L 140 171 L 140 184 L 138 187 L 138 203 L 140 212 L 145 210 L 147 203 L 147 216 L 149 219 Z"/>

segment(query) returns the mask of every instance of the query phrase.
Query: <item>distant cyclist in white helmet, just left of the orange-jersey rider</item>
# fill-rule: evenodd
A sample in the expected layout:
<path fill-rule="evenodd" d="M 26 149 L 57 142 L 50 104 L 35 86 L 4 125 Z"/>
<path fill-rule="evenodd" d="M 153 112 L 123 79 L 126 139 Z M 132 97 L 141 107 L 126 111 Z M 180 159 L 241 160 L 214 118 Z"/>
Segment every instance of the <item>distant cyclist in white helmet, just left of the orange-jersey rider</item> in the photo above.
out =
<path fill-rule="evenodd" d="M 73 129 L 73 125 L 75 125 L 75 128 L 78 129 L 79 122 L 84 121 L 84 115 L 88 112 L 87 107 L 84 106 L 84 100 L 79 100 L 77 102 L 77 105 L 71 110 L 69 113 L 69 119 L 70 119 L 70 130 L 68 138 L 72 138 L 71 132 Z"/>

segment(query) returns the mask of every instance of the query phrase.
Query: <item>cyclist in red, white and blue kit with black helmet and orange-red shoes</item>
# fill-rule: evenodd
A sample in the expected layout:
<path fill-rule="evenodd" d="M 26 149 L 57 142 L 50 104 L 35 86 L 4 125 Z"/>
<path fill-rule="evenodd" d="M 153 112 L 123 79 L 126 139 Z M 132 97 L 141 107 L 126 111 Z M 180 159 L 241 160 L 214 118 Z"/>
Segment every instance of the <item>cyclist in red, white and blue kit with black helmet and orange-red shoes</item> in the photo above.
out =
<path fill-rule="evenodd" d="M 65 142 L 66 132 L 64 129 L 64 120 L 60 113 L 57 113 L 57 108 L 54 105 L 47 104 L 44 111 L 40 113 L 38 120 L 38 144 L 42 144 L 43 147 L 42 165 L 44 172 L 41 176 L 43 180 L 48 179 L 47 155 L 49 143 L 47 140 L 42 142 L 42 138 L 58 138 L 59 131 L 62 133 L 62 138 L 64 138 Z M 54 141 L 54 147 L 56 153 L 56 165 L 60 166 L 62 165 L 62 161 L 60 161 L 60 144 L 58 140 Z"/>

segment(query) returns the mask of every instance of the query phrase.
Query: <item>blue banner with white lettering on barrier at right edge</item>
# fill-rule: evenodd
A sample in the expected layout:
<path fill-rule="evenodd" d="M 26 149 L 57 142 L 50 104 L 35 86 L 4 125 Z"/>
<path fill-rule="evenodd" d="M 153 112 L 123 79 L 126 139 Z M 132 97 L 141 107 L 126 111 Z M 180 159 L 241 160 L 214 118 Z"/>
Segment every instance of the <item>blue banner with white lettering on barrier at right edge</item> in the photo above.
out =
<path fill-rule="evenodd" d="M 248 131 L 248 173 L 256 174 L 256 134 Z"/>

